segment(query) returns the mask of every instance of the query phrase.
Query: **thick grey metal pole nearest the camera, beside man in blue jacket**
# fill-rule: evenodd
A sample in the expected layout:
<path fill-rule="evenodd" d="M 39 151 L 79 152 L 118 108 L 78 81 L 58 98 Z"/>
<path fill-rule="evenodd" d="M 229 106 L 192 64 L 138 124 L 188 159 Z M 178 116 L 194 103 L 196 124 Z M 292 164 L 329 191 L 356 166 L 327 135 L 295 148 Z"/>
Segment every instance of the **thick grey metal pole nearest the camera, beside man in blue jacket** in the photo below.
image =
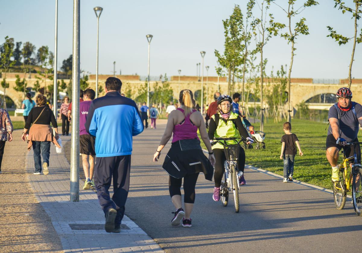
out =
<path fill-rule="evenodd" d="M 70 201 L 79 202 L 80 0 L 73 0 L 72 139 Z"/>

